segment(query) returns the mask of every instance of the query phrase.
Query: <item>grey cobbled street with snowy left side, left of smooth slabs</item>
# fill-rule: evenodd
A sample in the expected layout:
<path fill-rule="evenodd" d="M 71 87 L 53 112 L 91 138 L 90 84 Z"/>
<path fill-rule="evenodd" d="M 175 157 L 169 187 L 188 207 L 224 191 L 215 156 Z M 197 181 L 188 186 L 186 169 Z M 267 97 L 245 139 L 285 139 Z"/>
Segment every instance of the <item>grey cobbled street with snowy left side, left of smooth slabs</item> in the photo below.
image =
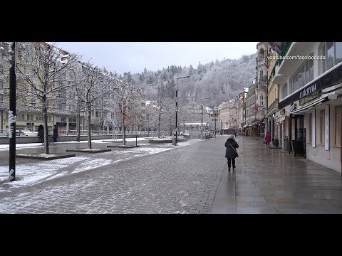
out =
<path fill-rule="evenodd" d="M 209 203 L 199 207 L 209 213 L 217 166 L 225 161 L 222 152 L 203 158 L 210 150 L 205 144 L 199 139 L 179 146 L 142 143 L 134 149 L 18 164 L 21 180 L 0 185 L 0 213 L 191 213 L 202 198 Z M 5 178 L 8 166 L 0 172 Z"/>

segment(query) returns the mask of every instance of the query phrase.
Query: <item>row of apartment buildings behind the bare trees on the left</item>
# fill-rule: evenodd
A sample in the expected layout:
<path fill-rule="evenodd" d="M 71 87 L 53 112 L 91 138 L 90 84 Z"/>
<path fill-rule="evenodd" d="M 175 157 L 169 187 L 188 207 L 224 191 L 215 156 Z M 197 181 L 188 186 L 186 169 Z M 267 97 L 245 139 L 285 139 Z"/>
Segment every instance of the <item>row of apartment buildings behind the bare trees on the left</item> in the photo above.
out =
<path fill-rule="evenodd" d="M 30 42 L 26 43 L 26 46 L 21 45 L 21 47 L 28 47 Z M 17 49 L 18 50 L 18 49 Z M 68 61 L 68 56 L 70 53 L 63 49 L 56 49 L 58 54 L 63 58 L 61 62 L 66 63 Z M 19 51 L 19 50 L 18 50 Z M 16 58 L 16 65 L 23 65 L 26 70 L 27 63 L 21 63 L 20 58 Z M 87 68 L 80 61 L 76 62 L 74 69 L 82 70 Z M 29 70 L 29 67 L 27 68 Z M 101 73 L 103 82 L 105 78 L 108 78 L 108 74 Z M 9 110 L 9 43 L 0 42 L 0 132 L 8 129 L 8 110 Z M 67 80 L 67 78 L 65 78 Z M 22 82 L 21 76 L 17 76 L 17 85 Z M 53 86 L 53 85 L 51 85 Z M 98 85 L 103 87 L 103 85 Z M 95 106 L 91 112 L 91 122 L 90 129 L 93 131 L 111 132 L 113 129 L 122 129 L 122 108 L 123 105 L 127 105 L 128 102 L 120 102 L 118 96 L 110 93 L 113 88 L 108 85 L 105 90 L 108 93 L 103 93 L 101 97 L 95 102 Z M 142 87 L 137 87 L 138 96 L 135 97 L 132 102 L 135 106 L 135 111 L 126 108 L 125 126 L 126 129 L 131 130 L 141 130 L 145 127 L 145 89 Z M 23 98 L 24 97 L 24 98 Z M 27 129 L 30 131 L 36 131 L 40 124 L 43 124 L 43 114 L 41 112 L 41 103 L 35 98 L 28 99 L 28 95 L 21 95 L 17 92 L 17 102 L 26 102 L 21 108 L 16 110 L 16 127 L 17 129 Z M 78 106 L 78 96 L 76 90 L 69 87 L 68 90 L 60 90 L 56 98 L 48 108 L 48 129 L 53 128 L 53 124 L 57 124 L 58 131 L 76 131 L 76 124 L 79 122 L 79 127 L 81 130 L 88 129 L 88 123 L 86 119 L 86 109 L 79 110 Z M 18 105 L 18 103 L 17 103 Z M 116 105 L 116 106 L 115 106 Z M 114 106 L 114 107 L 113 107 Z M 131 114 L 128 114 L 131 112 Z"/>

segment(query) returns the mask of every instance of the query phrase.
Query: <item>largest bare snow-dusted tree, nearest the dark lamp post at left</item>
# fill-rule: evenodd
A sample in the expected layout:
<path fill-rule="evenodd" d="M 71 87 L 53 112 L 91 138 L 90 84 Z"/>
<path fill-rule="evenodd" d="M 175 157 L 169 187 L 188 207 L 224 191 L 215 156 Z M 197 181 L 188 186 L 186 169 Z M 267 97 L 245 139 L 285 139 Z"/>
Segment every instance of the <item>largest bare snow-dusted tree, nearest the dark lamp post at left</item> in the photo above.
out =
<path fill-rule="evenodd" d="M 66 104 L 66 90 L 78 84 L 71 78 L 71 70 L 76 68 L 78 55 L 68 53 L 56 43 L 18 43 L 17 97 L 21 104 L 19 111 L 43 112 L 44 151 L 48 149 L 48 110 L 56 104 Z"/>

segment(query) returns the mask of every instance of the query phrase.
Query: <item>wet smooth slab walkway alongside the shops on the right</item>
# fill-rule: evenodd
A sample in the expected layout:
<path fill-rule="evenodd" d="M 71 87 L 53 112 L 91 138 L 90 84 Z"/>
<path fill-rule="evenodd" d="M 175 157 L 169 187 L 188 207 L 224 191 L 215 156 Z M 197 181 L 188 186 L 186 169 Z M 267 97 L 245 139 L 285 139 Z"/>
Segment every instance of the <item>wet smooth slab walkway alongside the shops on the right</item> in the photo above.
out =
<path fill-rule="evenodd" d="M 256 137 L 236 139 L 237 169 L 224 166 L 211 213 L 342 213 L 341 173 Z"/>

